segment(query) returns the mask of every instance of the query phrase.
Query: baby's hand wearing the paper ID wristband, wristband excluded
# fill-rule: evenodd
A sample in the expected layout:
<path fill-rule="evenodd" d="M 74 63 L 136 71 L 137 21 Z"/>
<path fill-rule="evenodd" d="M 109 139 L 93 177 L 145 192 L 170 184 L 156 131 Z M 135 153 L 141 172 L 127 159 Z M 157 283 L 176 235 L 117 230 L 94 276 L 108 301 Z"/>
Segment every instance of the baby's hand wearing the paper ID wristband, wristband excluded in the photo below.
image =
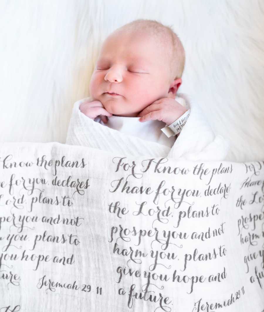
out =
<path fill-rule="evenodd" d="M 160 120 L 170 125 L 185 112 L 186 108 L 172 98 L 161 98 L 142 110 L 137 117 L 139 121 Z"/>

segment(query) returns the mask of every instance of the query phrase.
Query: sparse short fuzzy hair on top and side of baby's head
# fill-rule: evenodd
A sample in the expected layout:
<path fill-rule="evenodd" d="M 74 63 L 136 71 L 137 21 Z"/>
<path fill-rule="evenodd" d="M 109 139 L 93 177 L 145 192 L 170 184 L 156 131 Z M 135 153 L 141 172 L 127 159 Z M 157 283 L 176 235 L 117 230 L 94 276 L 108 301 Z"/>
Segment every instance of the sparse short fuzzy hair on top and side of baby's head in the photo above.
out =
<path fill-rule="evenodd" d="M 169 59 L 171 80 L 181 78 L 185 65 L 185 51 L 180 38 L 172 30 L 172 26 L 164 26 L 155 20 L 138 19 L 121 26 L 116 31 L 138 29 L 154 35 L 159 43 L 163 43 Z"/>

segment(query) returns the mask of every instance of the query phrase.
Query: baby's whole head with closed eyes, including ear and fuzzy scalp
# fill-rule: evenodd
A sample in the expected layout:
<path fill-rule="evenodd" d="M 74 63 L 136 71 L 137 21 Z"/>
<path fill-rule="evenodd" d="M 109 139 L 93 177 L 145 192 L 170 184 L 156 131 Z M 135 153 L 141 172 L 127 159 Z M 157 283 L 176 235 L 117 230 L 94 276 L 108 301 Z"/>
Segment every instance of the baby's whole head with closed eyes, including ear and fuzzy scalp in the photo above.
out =
<path fill-rule="evenodd" d="M 160 98 L 175 98 L 184 63 L 182 43 L 169 27 L 152 20 L 131 22 L 104 41 L 90 95 L 113 115 L 136 117 Z"/>

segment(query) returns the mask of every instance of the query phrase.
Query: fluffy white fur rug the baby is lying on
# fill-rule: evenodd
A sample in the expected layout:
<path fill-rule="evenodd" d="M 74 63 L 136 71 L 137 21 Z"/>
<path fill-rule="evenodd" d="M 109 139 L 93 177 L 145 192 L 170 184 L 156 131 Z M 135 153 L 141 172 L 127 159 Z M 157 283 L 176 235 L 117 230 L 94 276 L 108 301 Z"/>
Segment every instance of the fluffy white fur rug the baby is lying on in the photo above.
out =
<path fill-rule="evenodd" d="M 0 141 L 65 143 L 102 41 L 138 18 L 179 35 L 179 92 L 229 139 L 228 159 L 264 160 L 263 0 L 0 0 Z"/>

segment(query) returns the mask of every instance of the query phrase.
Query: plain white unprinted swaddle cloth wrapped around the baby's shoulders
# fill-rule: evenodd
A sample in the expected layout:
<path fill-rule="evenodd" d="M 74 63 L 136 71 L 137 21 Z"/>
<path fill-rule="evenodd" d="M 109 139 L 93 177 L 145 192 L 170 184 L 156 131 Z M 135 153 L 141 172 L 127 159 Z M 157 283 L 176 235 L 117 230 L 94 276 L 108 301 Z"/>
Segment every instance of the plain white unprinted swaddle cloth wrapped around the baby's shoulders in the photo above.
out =
<path fill-rule="evenodd" d="M 94 122 L 79 110 L 80 104 L 89 98 L 79 100 L 74 104 L 66 144 L 133 156 L 151 155 L 195 161 L 224 160 L 229 146 L 227 141 L 220 135 L 214 135 L 199 105 L 189 102 L 183 94 L 180 96 L 187 101 L 187 107 L 190 107 L 191 113 L 171 149 Z"/>

